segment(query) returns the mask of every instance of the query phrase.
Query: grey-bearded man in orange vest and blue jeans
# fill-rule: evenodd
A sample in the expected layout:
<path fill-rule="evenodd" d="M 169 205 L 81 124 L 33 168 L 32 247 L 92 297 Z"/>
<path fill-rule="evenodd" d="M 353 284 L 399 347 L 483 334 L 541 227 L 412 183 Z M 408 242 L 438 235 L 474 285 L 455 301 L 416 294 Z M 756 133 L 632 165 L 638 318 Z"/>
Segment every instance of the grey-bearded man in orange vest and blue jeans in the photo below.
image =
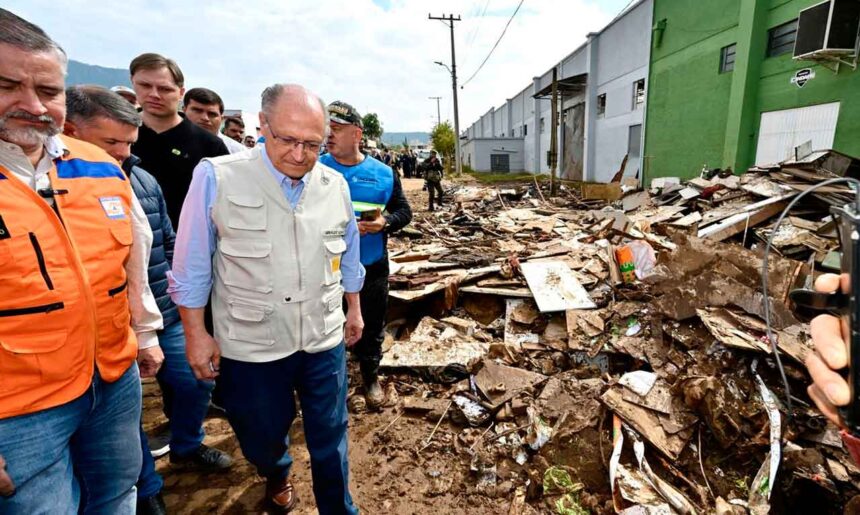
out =
<path fill-rule="evenodd" d="M 0 513 L 133 514 L 152 233 L 118 163 L 58 136 L 66 56 L 0 9 Z M 154 373 L 154 372 L 153 372 Z"/>

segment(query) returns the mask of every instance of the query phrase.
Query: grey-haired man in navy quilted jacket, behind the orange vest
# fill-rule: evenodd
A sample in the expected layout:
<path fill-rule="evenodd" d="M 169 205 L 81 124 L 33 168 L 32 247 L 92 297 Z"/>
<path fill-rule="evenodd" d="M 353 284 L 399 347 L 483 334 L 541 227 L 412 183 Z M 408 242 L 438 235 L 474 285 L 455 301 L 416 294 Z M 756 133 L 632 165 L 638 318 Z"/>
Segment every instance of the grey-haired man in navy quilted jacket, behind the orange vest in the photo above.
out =
<path fill-rule="evenodd" d="M 194 377 L 185 357 L 185 333 L 179 311 L 167 294 L 166 274 L 173 260 L 176 234 L 158 182 L 136 166 L 139 159 L 131 154 L 131 145 L 137 139 L 141 123 L 140 114 L 127 100 L 99 86 L 69 88 L 66 91 L 66 108 L 65 133 L 101 147 L 122 164 L 152 229 L 149 284 L 164 319 L 164 330 L 158 332 L 157 346 L 140 351 L 138 363 L 142 377 L 152 377 L 157 372 L 156 377 L 164 392 L 165 414 L 171 429 L 171 462 L 204 470 L 229 468 L 232 464 L 229 455 L 203 445 L 203 418 L 208 411 L 213 383 Z M 162 365 L 160 368 L 158 363 Z M 161 499 L 163 481 L 155 472 L 155 463 L 142 429 L 141 444 L 143 468 L 137 484 L 137 513 L 166 513 Z"/>

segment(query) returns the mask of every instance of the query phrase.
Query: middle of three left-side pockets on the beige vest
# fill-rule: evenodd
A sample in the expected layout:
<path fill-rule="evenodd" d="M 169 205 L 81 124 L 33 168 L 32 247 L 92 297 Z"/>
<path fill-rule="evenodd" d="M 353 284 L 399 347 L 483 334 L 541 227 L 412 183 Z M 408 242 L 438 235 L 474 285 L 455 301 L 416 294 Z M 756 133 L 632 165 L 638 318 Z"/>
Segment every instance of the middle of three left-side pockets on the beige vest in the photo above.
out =
<path fill-rule="evenodd" d="M 221 281 L 227 286 L 270 293 L 272 243 L 263 240 L 222 239 L 218 245 L 224 257 Z"/>

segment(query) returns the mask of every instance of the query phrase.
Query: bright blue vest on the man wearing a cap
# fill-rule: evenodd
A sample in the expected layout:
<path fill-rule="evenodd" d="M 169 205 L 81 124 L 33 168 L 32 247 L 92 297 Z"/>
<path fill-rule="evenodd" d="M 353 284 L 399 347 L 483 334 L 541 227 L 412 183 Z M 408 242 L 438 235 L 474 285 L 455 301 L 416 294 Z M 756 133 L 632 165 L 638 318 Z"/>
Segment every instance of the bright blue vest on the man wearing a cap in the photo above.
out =
<path fill-rule="evenodd" d="M 355 166 L 344 166 L 338 163 L 331 154 L 320 157 L 320 162 L 341 173 L 349 185 L 349 195 L 352 197 L 352 207 L 356 218 L 363 211 L 385 210 L 394 192 L 394 172 L 385 163 L 371 157 Z M 385 255 L 385 234 L 365 234 L 360 239 L 360 257 L 362 265 L 372 265 Z"/>

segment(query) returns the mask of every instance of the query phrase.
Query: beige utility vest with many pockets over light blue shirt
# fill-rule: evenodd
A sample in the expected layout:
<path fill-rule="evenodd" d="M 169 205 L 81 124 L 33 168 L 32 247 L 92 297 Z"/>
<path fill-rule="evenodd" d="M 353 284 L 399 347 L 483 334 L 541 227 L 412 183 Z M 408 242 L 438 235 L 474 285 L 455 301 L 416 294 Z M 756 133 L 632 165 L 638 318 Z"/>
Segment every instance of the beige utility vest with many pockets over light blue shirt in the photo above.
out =
<path fill-rule="evenodd" d="M 353 216 L 346 181 L 317 163 L 293 210 L 260 148 L 210 161 L 218 233 L 212 314 L 221 354 L 259 363 L 340 344 L 340 260 Z"/>

